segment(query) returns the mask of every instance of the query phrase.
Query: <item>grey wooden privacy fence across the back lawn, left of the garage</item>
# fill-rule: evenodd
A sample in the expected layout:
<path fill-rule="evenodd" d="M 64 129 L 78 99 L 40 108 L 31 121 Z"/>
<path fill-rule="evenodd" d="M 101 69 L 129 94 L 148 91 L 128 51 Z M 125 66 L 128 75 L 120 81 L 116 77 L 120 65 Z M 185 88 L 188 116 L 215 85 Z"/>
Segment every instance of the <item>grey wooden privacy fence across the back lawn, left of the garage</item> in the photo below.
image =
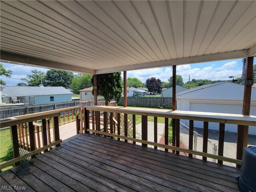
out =
<path fill-rule="evenodd" d="M 123 97 L 118 105 L 124 105 Z M 127 105 L 134 107 L 172 108 L 172 97 L 127 97 Z"/>

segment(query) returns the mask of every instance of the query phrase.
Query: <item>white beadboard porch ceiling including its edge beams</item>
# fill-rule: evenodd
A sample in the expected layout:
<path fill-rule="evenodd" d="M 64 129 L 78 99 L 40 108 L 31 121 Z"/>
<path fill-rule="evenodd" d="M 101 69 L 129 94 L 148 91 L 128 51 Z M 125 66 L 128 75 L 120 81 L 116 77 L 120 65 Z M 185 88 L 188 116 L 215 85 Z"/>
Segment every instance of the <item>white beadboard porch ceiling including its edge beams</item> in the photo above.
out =
<path fill-rule="evenodd" d="M 256 54 L 256 1 L 1 0 L 0 9 L 3 62 L 100 74 Z"/>

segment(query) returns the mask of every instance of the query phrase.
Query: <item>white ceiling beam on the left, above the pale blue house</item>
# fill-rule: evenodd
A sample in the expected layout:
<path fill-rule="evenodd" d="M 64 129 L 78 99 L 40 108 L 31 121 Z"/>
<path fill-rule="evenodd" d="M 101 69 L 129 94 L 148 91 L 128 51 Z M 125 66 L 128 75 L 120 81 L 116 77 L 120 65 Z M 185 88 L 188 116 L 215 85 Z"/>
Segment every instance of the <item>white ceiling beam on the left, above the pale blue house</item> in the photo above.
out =
<path fill-rule="evenodd" d="M 0 61 L 6 62 L 6 63 L 12 63 L 12 64 L 33 66 L 33 67 L 64 70 L 68 72 L 77 72 L 77 73 L 85 73 L 85 74 L 95 73 L 95 70 L 88 69 L 88 68 L 72 66 L 65 63 L 50 61 L 50 60 L 26 56 L 26 55 L 20 55 L 20 54 L 6 52 L 6 51 L 1 51 Z"/>

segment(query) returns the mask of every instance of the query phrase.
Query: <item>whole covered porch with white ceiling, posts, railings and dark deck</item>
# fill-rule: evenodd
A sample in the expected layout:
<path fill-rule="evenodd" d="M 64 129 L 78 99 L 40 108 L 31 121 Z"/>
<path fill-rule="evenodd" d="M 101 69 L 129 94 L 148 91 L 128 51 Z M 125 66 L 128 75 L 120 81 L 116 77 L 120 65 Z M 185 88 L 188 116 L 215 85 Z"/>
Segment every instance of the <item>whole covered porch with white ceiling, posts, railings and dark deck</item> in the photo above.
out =
<path fill-rule="evenodd" d="M 1 164 L 1 169 L 16 166 L 1 172 L 1 187 L 65 192 L 239 191 L 235 177 L 240 174 L 248 126 L 256 124 L 256 116 L 250 115 L 256 56 L 255 3 L 1 1 L 1 62 L 92 74 L 94 79 L 94 105 L 84 106 L 76 114 L 75 137 L 62 142 L 60 112 L 1 122 L 1 127 L 10 126 L 14 149 L 14 159 Z M 246 58 L 241 114 L 176 110 L 177 66 L 237 58 Z M 166 66 L 172 66 L 172 110 L 127 108 L 127 71 Z M 97 75 L 121 71 L 124 107 L 98 106 Z M 136 138 L 136 115 L 142 119 L 141 139 Z M 148 140 L 149 117 L 154 119 L 154 141 Z M 158 117 L 164 118 L 164 144 L 157 142 Z M 173 119 L 172 146 L 168 145 L 169 118 Z M 190 122 L 188 148 L 180 147 L 180 119 Z M 37 147 L 35 133 L 39 131 L 33 122 L 38 120 L 42 121 L 42 139 L 37 140 L 41 142 Z M 52 137 L 47 132 L 50 120 Z M 204 122 L 202 151 L 193 150 L 194 120 Z M 132 133 L 128 132 L 128 122 Z M 219 124 L 218 155 L 207 151 L 208 122 Z M 238 126 L 236 158 L 223 156 L 226 123 Z M 26 141 L 28 153 L 22 156 L 21 124 L 27 126 L 30 135 Z M 202 156 L 202 160 L 194 155 Z M 28 162 L 21 162 L 30 157 Z"/>

